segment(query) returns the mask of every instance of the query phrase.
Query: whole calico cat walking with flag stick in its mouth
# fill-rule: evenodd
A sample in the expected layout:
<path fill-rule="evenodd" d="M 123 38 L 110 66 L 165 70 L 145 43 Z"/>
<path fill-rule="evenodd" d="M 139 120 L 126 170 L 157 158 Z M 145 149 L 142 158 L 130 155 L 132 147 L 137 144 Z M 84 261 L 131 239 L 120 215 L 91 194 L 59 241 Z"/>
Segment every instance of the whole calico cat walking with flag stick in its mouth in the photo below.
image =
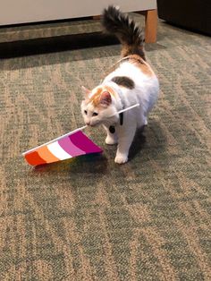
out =
<path fill-rule="evenodd" d="M 122 43 L 122 58 L 96 88 L 82 87 L 85 97 L 80 107 L 87 125 L 104 126 L 106 144 L 118 143 L 114 161 L 123 164 L 128 161 L 137 128 L 148 124 L 148 113 L 158 98 L 159 82 L 146 62 L 142 30 L 135 22 L 118 8 L 108 6 L 102 14 L 102 25 Z M 118 114 L 137 103 L 139 107 Z"/>

